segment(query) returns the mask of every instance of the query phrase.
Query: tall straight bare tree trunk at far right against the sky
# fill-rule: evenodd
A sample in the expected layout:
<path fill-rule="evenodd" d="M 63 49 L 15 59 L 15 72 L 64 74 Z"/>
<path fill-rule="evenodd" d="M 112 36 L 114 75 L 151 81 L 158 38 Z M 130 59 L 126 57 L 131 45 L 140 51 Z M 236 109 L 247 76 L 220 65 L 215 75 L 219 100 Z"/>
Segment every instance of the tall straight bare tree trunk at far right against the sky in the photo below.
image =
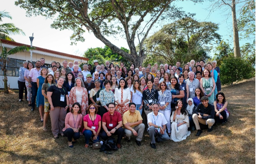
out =
<path fill-rule="evenodd" d="M 237 20 L 236 20 L 236 0 L 232 0 L 232 22 L 233 22 L 233 41 L 234 41 L 234 54 L 235 57 L 240 58 L 240 46 L 239 46 L 239 36 L 238 36 L 238 28 L 237 28 Z"/>

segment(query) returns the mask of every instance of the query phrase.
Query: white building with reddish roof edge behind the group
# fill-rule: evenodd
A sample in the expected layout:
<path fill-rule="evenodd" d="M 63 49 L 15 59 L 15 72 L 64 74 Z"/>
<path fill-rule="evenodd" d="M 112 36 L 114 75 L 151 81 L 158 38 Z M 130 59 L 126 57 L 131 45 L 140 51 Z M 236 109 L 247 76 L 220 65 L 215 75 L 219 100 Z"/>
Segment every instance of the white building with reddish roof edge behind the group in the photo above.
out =
<path fill-rule="evenodd" d="M 10 49 L 22 46 L 26 44 L 7 41 L 4 39 L 1 39 L 2 46 L 7 48 L 7 51 Z M 27 45 L 30 47 L 30 45 Z M 2 53 L 2 47 L 0 48 L 0 53 Z M 1 57 L 0 57 L 1 58 Z M 30 52 L 21 52 L 14 55 L 8 56 L 9 60 L 7 61 L 7 78 L 8 78 L 8 85 L 10 84 L 11 89 L 18 89 L 18 77 L 19 77 L 19 69 L 20 67 L 23 67 L 22 63 L 24 61 L 30 61 Z M 40 60 L 41 58 L 45 59 L 45 65 L 51 67 L 52 61 L 59 62 L 61 66 L 63 60 L 67 60 L 68 62 L 77 60 L 79 64 L 81 63 L 87 63 L 89 59 L 70 55 L 62 52 L 47 50 L 44 48 L 36 47 L 36 50 L 33 51 L 32 55 L 32 62 L 35 63 L 37 60 Z M 0 63 L 1 64 L 1 63 Z M 0 65 L 1 67 L 1 65 Z M 2 67 L 1 67 L 2 68 Z M 0 70 L 0 89 L 4 88 L 4 76 L 3 76 L 3 70 Z"/>

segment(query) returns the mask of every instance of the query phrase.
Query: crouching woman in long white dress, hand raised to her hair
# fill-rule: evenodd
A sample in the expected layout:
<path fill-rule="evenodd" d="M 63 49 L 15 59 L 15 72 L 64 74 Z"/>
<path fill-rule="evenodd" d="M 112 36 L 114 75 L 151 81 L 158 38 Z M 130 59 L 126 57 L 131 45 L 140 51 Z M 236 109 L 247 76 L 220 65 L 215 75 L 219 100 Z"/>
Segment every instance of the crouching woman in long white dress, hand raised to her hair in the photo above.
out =
<path fill-rule="evenodd" d="M 172 133 L 170 138 L 172 141 L 180 142 L 190 135 L 190 131 L 188 131 L 188 113 L 181 100 L 177 100 L 175 108 L 172 109 L 171 122 Z"/>

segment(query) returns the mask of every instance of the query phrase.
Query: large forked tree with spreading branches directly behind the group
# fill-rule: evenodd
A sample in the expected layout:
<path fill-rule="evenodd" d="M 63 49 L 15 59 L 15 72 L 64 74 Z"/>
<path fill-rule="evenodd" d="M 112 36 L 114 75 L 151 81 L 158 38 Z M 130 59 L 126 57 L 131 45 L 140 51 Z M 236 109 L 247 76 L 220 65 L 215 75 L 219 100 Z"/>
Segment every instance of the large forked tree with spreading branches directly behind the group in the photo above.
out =
<path fill-rule="evenodd" d="M 72 43 L 84 41 L 85 30 L 136 66 L 142 64 L 146 55 L 143 43 L 156 22 L 174 20 L 185 16 L 173 4 L 175 0 L 17 0 L 15 5 L 27 11 L 27 15 L 43 15 L 55 19 L 51 27 L 70 29 L 74 34 Z M 191 0 L 202 2 L 202 0 Z M 107 36 L 121 35 L 127 41 L 130 53 L 111 43 Z M 136 50 L 135 39 L 139 43 Z"/>

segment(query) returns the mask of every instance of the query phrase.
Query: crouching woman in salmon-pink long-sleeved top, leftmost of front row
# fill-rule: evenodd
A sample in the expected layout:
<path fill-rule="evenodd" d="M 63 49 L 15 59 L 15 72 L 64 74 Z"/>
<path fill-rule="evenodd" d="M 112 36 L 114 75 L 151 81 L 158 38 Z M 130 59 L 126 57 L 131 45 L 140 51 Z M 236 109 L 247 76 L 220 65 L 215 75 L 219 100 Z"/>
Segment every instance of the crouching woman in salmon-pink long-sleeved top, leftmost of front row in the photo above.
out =
<path fill-rule="evenodd" d="M 70 112 L 65 118 L 65 127 L 62 129 L 63 135 L 68 137 L 68 146 L 74 147 L 73 144 L 80 138 L 79 129 L 82 126 L 83 115 L 81 114 L 81 106 L 79 103 L 74 103 Z"/>

